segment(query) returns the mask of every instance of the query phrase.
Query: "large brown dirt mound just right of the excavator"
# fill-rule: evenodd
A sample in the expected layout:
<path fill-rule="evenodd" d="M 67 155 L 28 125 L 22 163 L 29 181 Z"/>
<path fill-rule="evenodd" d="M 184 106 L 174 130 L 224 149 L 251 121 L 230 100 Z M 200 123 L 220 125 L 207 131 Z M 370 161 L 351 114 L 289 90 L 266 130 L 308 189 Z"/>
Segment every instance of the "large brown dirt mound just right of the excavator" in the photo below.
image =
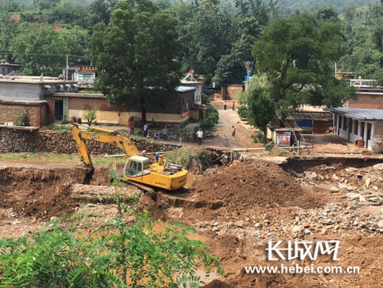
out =
<path fill-rule="evenodd" d="M 249 160 L 206 176 L 195 185 L 200 200 L 223 202 L 231 210 L 252 209 L 255 206 L 317 207 L 323 202 L 311 191 L 299 186 L 290 174 L 268 161 Z"/>

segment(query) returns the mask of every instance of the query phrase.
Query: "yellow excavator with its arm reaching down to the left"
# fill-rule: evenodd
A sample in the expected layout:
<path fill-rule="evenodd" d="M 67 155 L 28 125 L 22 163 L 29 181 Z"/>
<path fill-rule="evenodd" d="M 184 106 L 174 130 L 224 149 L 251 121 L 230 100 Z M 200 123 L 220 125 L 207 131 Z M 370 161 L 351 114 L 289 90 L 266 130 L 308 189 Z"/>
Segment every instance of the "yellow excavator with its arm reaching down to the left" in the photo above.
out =
<path fill-rule="evenodd" d="M 80 126 L 99 132 L 81 130 Z M 182 188 L 186 184 L 187 170 L 175 164 L 164 165 L 162 157 L 158 163 L 150 164 L 149 159 L 141 156 L 133 142 L 121 132 L 74 123 L 72 135 L 77 143 L 81 160 L 88 167 L 91 174 L 95 169 L 85 139 L 113 144 L 121 149 L 125 153 L 125 158 L 127 158 L 123 170 L 125 179 L 166 190 Z"/>

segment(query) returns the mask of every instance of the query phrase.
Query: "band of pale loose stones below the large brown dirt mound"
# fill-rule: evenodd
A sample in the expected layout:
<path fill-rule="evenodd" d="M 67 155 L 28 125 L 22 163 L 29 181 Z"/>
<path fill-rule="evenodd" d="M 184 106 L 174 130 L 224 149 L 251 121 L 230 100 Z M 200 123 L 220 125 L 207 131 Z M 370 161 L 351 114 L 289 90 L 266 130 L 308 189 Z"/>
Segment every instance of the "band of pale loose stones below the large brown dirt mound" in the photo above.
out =
<path fill-rule="evenodd" d="M 273 211 L 231 222 L 228 215 L 218 213 L 214 222 L 197 222 L 201 232 L 212 232 L 217 235 L 235 234 L 238 238 L 244 235 L 254 236 L 258 240 L 279 239 L 288 241 L 293 238 L 312 239 L 327 234 L 338 234 L 342 237 L 364 236 L 383 233 L 383 210 L 368 213 L 356 205 L 329 203 L 318 209 L 291 207 L 288 215 L 279 215 Z M 175 217 L 176 218 L 176 217 Z M 269 220 L 271 219 L 271 221 Z M 265 223 L 269 222 L 269 225 Z"/>

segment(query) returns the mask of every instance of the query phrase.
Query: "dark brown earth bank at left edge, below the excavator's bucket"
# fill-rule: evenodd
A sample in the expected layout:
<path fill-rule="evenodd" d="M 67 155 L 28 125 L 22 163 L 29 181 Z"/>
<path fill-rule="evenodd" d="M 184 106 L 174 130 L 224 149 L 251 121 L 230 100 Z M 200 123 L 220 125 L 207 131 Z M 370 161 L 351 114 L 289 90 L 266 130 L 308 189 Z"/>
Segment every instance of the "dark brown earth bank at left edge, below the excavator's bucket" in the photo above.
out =
<path fill-rule="evenodd" d="M 96 170 L 95 183 L 105 183 L 109 179 L 106 172 Z M 12 208 L 19 215 L 47 219 L 71 212 L 78 205 L 70 197 L 71 186 L 86 182 L 86 173 L 81 168 L 0 169 L 0 207 Z"/>

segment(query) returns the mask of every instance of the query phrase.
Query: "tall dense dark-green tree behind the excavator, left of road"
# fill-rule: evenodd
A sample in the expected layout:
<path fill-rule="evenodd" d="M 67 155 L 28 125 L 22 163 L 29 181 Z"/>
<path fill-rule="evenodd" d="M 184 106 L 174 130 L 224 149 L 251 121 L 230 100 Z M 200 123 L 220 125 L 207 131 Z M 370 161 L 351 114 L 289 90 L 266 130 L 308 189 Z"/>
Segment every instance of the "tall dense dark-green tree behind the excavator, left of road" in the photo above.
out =
<path fill-rule="evenodd" d="M 96 90 L 111 103 L 141 109 L 164 107 L 176 96 L 180 64 L 175 27 L 169 10 L 149 0 L 125 0 L 116 5 L 111 23 L 98 24 L 91 46 L 95 65 L 102 70 Z"/>

